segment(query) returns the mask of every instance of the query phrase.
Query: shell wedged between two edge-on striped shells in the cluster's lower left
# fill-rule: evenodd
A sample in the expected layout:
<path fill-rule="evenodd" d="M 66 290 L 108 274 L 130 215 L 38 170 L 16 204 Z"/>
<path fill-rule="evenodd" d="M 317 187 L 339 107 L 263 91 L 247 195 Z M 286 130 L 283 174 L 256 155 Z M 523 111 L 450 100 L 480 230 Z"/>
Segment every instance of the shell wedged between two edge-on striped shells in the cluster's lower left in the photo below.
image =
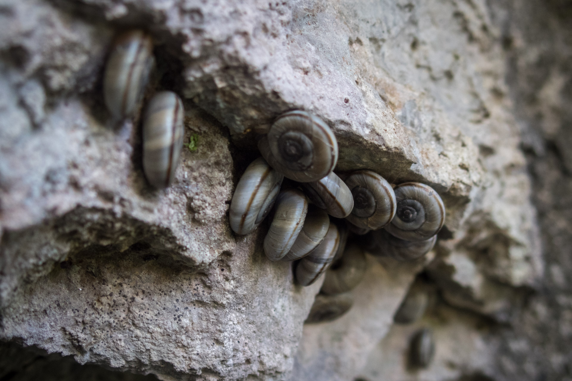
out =
<path fill-rule="evenodd" d="M 328 214 L 320 208 L 310 205 L 304 219 L 302 231 L 300 231 L 292 248 L 282 260 L 296 260 L 308 255 L 322 242 L 325 234 L 328 232 L 328 227 Z"/>

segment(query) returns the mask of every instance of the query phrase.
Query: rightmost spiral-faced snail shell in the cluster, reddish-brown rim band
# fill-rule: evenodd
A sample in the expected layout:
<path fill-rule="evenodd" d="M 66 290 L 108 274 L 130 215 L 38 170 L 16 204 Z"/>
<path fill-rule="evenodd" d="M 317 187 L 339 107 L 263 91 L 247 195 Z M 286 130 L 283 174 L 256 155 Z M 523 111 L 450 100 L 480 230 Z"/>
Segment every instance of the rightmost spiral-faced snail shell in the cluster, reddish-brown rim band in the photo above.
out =
<path fill-rule="evenodd" d="M 445 222 L 443 200 L 430 186 L 403 183 L 395 187 L 397 210 L 386 226 L 390 234 L 405 240 L 425 240 L 441 230 Z"/>

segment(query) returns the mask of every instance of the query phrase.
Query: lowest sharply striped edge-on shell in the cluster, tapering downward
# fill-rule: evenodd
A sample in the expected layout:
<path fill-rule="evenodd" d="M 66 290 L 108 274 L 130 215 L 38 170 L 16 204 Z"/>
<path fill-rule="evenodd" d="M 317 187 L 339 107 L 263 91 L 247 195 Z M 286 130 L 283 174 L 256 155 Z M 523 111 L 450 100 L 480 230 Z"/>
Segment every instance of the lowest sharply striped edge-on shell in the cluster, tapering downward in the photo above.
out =
<path fill-rule="evenodd" d="M 302 286 L 309 286 L 327 270 L 336 255 L 340 244 L 340 234 L 336 224 L 330 223 L 324 240 L 310 254 L 300 259 L 296 266 L 296 282 Z"/>

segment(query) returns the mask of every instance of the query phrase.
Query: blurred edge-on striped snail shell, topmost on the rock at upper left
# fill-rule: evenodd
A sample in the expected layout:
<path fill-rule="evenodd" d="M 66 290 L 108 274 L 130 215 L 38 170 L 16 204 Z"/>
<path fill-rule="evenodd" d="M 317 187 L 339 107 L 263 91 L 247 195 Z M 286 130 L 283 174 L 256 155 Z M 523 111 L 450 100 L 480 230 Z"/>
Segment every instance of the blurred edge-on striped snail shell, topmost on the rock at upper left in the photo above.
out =
<path fill-rule="evenodd" d="M 145 93 L 153 65 L 153 41 L 148 34 L 130 30 L 118 36 L 104 74 L 104 101 L 114 119 L 133 113 Z"/>

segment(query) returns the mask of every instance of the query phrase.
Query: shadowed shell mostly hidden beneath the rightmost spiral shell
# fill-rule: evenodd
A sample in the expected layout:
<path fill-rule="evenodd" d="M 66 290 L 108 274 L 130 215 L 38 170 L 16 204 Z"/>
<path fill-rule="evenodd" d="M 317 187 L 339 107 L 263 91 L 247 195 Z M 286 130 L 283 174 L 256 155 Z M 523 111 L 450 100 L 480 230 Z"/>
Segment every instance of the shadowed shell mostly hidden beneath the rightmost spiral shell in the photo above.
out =
<path fill-rule="evenodd" d="M 370 249 L 371 254 L 376 256 L 390 256 L 396 260 L 414 260 L 427 254 L 437 240 L 434 235 L 422 241 L 407 241 L 399 239 L 386 230 L 372 231 L 375 247 Z"/>

